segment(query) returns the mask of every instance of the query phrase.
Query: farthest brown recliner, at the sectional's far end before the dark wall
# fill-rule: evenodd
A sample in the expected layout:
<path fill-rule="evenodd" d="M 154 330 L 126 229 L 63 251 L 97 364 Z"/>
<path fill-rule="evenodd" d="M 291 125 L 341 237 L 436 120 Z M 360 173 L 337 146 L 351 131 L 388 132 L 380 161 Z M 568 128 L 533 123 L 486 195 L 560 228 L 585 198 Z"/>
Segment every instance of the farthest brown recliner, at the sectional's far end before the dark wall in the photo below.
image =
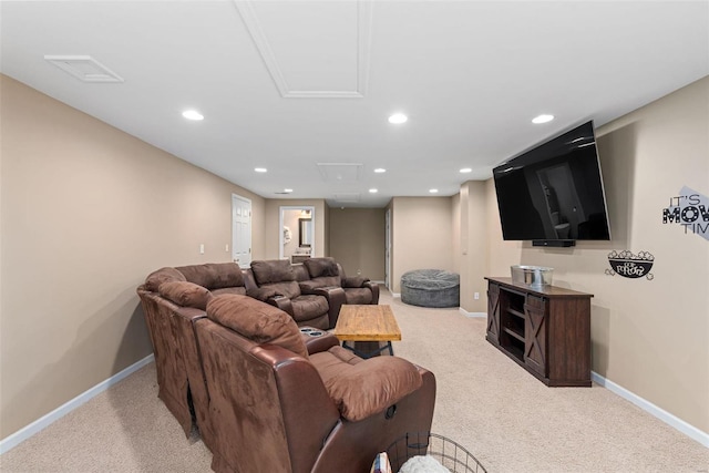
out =
<path fill-rule="evenodd" d="M 347 277 L 342 265 L 333 258 L 310 258 L 302 263 L 310 277 L 312 287 L 341 287 L 345 304 L 379 304 L 379 286 L 368 278 Z"/>

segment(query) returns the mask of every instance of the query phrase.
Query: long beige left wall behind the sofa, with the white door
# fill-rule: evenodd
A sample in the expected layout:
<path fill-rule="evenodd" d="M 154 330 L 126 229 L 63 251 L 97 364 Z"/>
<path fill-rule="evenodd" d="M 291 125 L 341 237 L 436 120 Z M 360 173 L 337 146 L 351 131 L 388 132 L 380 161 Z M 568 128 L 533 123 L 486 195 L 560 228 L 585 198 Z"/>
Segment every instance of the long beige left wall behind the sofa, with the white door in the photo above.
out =
<path fill-rule="evenodd" d="M 152 352 L 135 288 L 228 261 L 232 193 L 264 199 L 0 75 L 0 438 Z M 205 245 L 205 254 L 198 251 Z"/>

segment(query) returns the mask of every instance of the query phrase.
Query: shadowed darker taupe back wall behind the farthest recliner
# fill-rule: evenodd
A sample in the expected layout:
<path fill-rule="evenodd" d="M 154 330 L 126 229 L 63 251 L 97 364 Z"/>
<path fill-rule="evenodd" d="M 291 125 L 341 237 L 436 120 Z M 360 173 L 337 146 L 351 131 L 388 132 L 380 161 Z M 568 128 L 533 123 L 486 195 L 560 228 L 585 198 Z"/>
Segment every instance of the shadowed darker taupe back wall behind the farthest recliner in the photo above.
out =
<path fill-rule="evenodd" d="M 331 208 L 330 253 L 348 276 L 384 280 L 384 216 L 383 208 Z"/>

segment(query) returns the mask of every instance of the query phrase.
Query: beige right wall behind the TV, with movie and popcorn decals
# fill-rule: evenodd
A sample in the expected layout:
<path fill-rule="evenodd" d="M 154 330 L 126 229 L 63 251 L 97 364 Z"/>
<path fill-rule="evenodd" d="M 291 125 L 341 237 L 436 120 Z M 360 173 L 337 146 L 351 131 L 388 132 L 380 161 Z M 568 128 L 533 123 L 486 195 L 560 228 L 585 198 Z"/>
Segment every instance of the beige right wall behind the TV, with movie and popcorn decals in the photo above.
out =
<path fill-rule="evenodd" d="M 709 432 L 709 241 L 664 225 L 679 189 L 709 195 L 709 78 L 597 131 L 613 239 L 542 249 L 501 240 L 490 218 L 490 274 L 554 268 L 555 285 L 590 292 L 593 370 Z M 487 208 L 496 217 L 494 189 Z M 606 275 L 612 250 L 649 251 L 653 280 Z"/>

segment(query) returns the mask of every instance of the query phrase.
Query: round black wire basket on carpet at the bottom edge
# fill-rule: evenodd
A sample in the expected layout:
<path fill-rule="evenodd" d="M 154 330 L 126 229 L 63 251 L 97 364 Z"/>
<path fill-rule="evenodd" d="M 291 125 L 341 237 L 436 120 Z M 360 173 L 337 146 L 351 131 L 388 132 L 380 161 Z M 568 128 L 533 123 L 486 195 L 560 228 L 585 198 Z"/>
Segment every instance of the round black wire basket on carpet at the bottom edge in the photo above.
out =
<path fill-rule="evenodd" d="M 472 453 L 443 435 L 431 432 L 407 433 L 387 449 L 391 471 L 398 472 L 411 457 L 429 455 L 451 473 L 487 473 Z"/>

